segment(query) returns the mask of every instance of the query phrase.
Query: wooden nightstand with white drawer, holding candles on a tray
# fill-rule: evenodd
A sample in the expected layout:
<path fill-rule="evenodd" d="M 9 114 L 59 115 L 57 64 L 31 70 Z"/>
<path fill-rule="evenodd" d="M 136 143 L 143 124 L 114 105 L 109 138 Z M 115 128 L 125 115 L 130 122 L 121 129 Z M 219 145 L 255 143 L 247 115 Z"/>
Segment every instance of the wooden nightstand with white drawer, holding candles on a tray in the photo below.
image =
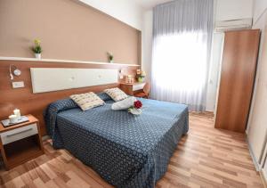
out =
<path fill-rule="evenodd" d="M 27 115 L 28 121 L 4 127 L 0 123 L 0 150 L 7 170 L 44 154 L 39 121 Z"/>

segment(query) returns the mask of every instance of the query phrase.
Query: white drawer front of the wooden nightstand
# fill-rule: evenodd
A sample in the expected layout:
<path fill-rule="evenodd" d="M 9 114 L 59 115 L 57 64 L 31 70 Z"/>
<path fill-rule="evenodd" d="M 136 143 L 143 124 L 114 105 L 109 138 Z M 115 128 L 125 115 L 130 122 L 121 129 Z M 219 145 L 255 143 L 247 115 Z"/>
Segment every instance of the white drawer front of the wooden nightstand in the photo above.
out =
<path fill-rule="evenodd" d="M 6 131 L 1 134 L 1 140 L 3 144 L 7 144 L 18 141 L 22 138 L 26 138 L 30 135 L 36 135 L 36 134 L 38 134 L 38 129 L 35 123 L 28 125 L 26 127 L 20 127 L 12 129 L 10 131 Z"/>

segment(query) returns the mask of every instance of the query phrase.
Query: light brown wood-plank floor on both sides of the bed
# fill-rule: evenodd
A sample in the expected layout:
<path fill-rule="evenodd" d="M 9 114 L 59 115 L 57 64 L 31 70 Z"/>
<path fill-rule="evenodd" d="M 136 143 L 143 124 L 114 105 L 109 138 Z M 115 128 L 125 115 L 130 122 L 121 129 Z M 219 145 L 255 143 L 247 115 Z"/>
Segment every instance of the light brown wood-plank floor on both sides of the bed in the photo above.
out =
<path fill-rule="evenodd" d="M 10 171 L 0 169 L 0 187 L 112 187 L 67 151 L 44 142 L 45 155 Z M 208 116 L 190 115 L 190 132 L 178 144 L 157 187 L 263 187 L 245 135 L 217 130 Z"/>

